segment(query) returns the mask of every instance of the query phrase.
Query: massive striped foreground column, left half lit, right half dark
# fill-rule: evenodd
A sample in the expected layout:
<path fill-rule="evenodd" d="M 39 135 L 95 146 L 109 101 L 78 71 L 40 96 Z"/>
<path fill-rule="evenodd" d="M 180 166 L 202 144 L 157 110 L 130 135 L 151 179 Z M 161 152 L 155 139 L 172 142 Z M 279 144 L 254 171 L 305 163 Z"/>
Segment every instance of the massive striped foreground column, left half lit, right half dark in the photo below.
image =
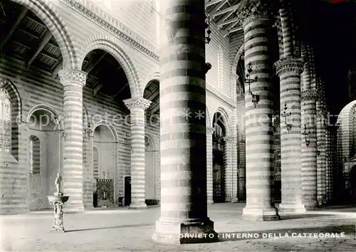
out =
<path fill-rule="evenodd" d="M 204 1 L 161 1 L 161 216 L 152 238 L 162 243 L 214 241 L 206 204 Z"/>

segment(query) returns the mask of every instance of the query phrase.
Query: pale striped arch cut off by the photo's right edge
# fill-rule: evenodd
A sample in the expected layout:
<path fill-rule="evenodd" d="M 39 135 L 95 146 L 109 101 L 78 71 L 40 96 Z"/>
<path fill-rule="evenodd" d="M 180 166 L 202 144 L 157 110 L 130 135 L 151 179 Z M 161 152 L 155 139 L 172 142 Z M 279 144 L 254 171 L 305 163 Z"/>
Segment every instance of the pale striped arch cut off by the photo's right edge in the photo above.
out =
<path fill-rule="evenodd" d="M 350 159 L 352 155 L 352 150 L 355 152 L 355 146 L 353 145 L 353 135 L 356 134 L 355 127 L 352 121 L 355 121 L 352 115 L 356 109 L 356 100 L 353 100 L 351 103 L 347 104 L 342 108 L 339 116 L 337 117 L 337 125 L 340 125 L 341 130 L 341 147 L 342 147 L 342 159 Z"/>

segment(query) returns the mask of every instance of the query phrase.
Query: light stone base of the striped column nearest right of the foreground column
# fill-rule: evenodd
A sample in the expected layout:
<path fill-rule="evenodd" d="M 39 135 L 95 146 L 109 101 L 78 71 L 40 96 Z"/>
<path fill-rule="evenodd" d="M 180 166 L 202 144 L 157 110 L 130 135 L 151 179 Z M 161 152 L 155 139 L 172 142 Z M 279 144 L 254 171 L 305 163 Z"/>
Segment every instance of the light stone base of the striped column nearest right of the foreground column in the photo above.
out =
<path fill-rule="evenodd" d="M 281 216 L 278 215 L 276 207 L 244 207 L 241 219 L 248 221 L 279 221 Z"/>

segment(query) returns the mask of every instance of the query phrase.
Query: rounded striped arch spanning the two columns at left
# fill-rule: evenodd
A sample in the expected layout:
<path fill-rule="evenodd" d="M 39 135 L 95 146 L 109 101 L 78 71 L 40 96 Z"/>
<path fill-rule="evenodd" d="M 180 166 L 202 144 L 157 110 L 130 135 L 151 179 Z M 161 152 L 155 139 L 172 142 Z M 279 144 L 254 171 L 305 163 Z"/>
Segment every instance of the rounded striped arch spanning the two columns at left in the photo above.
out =
<path fill-rule="evenodd" d="M 127 53 L 120 48 L 120 44 L 122 42 L 117 38 L 108 35 L 97 35 L 89 38 L 88 41 L 85 41 L 81 46 L 80 58 L 78 64 L 80 65 L 80 69 L 83 65 L 83 61 L 85 56 L 87 56 L 90 51 L 100 49 L 110 53 L 116 61 L 124 70 L 124 73 L 127 77 L 127 81 L 130 86 L 131 98 L 139 98 L 140 97 L 140 78 L 135 69 L 135 65 L 130 60 L 130 57 L 127 56 Z"/>

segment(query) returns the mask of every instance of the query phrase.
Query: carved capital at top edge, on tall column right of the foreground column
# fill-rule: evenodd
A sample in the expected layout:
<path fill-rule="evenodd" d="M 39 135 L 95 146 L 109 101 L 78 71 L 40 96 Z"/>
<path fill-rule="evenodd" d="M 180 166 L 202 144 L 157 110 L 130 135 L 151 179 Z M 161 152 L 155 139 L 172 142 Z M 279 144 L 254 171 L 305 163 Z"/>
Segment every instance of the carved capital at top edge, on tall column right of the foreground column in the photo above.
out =
<path fill-rule="evenodd" d="M 245 27 L 255 19 L 269 19 L 271 4 L 261 3 L 261 0 L 244 1 L 236 13 L 239 14 L 239 23 Z"/>

